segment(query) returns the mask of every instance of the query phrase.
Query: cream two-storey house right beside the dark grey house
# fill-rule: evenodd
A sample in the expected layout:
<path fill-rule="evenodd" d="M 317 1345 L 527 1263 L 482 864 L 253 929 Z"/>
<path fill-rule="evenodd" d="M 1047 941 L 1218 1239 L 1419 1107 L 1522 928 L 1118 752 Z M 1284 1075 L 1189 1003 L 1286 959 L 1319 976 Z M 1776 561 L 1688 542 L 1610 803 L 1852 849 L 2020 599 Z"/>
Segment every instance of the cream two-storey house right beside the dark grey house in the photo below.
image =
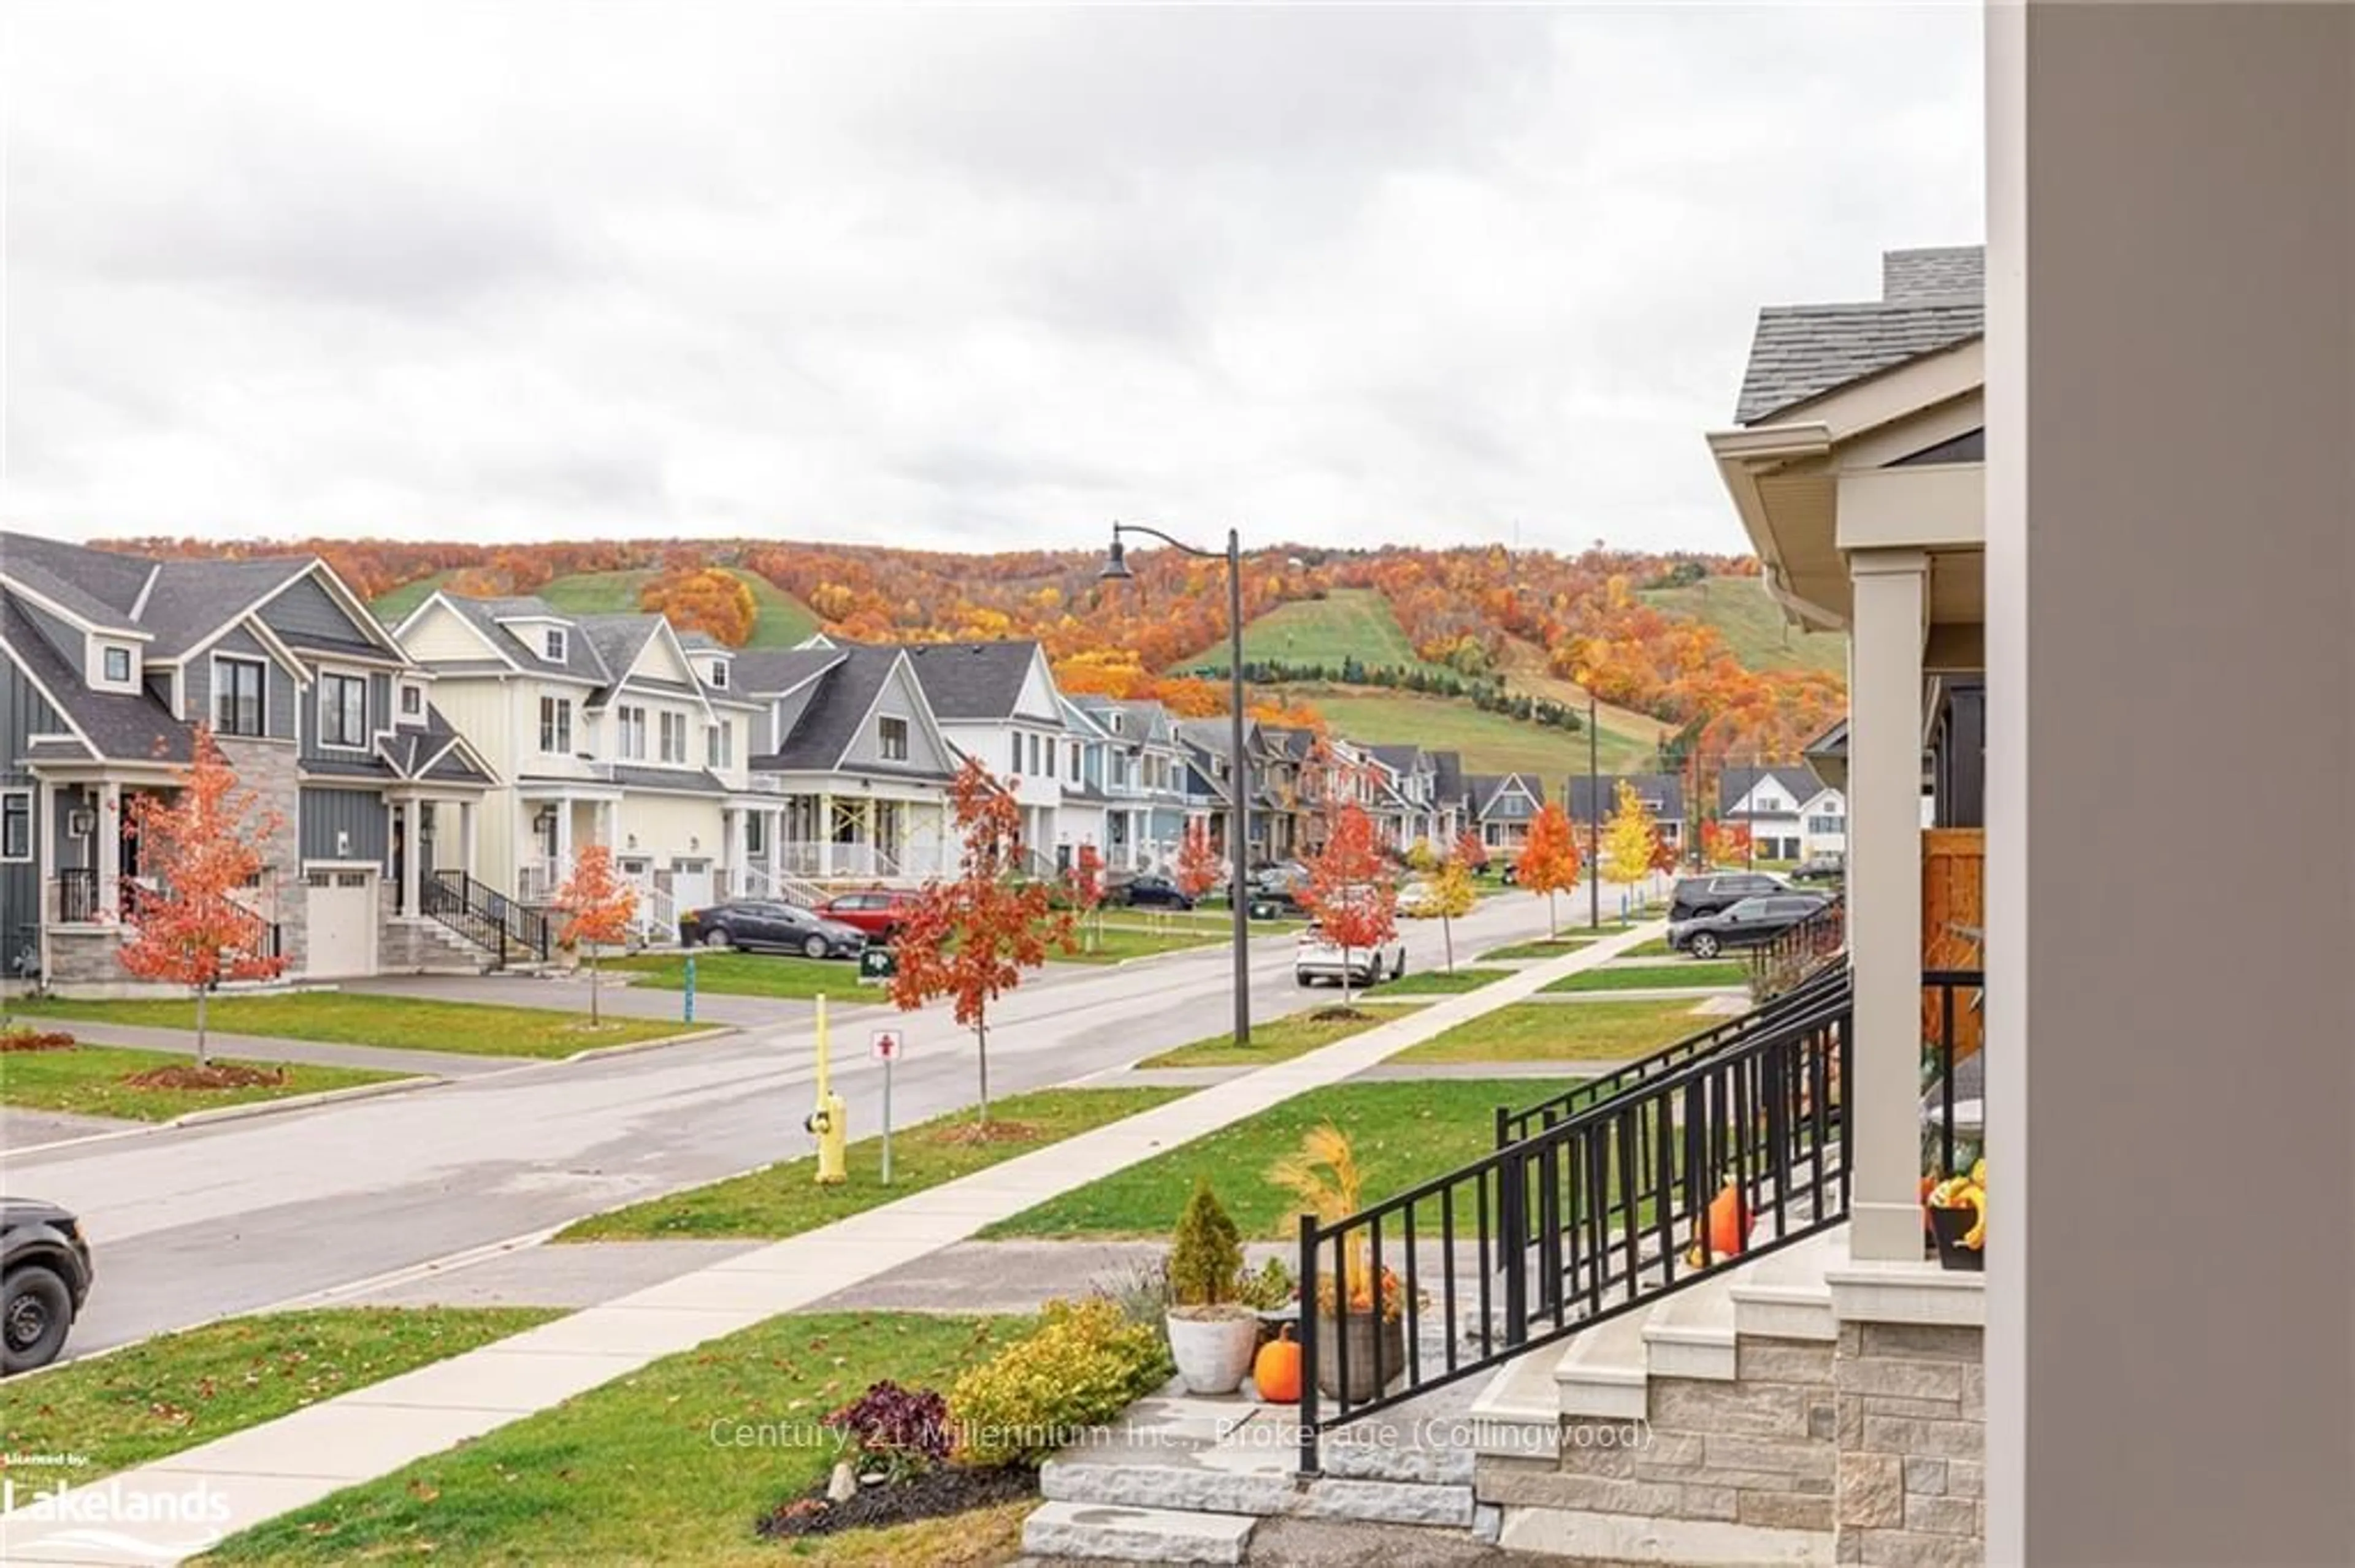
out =
<path fill-rule="evenodd" d="M 450 723 L 499 786 L 483 815 L 476 876 L 546 904 L 586 845 L 638 885 L 645 937 L 744 885 L 754 815 L 747 749 L 756 702 L 735 690 L 737 655 L 690 647 L 659 614 L 570 614 L 542 598 L 433 593 L 396 629 L 436 676 Z"/>

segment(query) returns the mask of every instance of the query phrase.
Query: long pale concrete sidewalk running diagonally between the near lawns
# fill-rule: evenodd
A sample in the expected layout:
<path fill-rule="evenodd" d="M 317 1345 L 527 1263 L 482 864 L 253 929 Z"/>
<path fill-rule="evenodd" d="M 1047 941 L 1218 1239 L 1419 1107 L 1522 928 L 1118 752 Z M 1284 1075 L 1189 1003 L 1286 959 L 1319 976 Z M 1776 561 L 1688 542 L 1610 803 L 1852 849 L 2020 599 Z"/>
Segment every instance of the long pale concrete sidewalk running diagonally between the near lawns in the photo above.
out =
<path fill-rule="evenodd" d="M 725 1257 L 485 1349 L 167 1455 L 106 1483 L 118 1495 L 200 1493 L 214 1500 L 207 1504 L 203 1528 L 177 1519 L 115 1521 L 106 1533 L 89 1533 L 61 1528 L 52 1519 L 7 1516 L 0 1519 L 0 1561 L 186 1561 L 264 1519 L 391 1474 L 662 1356 L 805 1309 L 827 1295 L 968 1241 L 982 1227 L 1034 1203 L 1255 1116 L 1279 1099 L 1354 1078 L 1455 1024 L 1528 998 L 1550 979 L 1606 963 L 1653 932 L 1656 928 L 1637 928 L 1479 991 L 1437 998 L 1427 1008 L 1321 1050 L 838 1220 L 820 1231 Z"/>

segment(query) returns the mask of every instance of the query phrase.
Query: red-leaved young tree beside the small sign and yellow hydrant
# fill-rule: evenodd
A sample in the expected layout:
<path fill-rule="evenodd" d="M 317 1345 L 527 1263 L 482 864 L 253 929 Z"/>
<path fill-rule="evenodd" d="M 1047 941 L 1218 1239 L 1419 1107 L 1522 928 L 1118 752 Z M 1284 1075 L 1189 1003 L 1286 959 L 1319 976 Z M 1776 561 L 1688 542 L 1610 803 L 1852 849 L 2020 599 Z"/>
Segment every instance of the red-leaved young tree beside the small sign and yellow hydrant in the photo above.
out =
<path fill-rule="evenodd" d="M 956 1022 L 973 1029 L 980 1062 L 977 1135 L 989 1130 L 989 1003 L 1022 984 L 1022 970 L 1046 963 L 1048 946 L 1072 949 L 1072 916 L 1055 909 L 1050 883 L 1022 876 L 1022 808 L 966 758 L 949 786 L 956 876 L 926 885 L 900 928 L 900 970 L 890 998 L 914 1010 L 935 996 L 956 1001 Z"/>

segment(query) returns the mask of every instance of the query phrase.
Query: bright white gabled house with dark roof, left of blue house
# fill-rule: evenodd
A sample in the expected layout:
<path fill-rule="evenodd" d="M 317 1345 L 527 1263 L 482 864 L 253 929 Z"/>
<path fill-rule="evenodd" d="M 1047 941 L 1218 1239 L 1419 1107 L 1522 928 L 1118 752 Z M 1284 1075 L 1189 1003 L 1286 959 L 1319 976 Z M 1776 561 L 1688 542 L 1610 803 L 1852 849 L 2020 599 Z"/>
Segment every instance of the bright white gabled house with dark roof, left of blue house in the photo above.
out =
<path fill-rule="evenodd" d="M 1034 640 L 914 643 L 904 647 L 916 683 L 956 746 L 1006 779 L 1022 808 L 1031 871 L 1055 869 L 1055 812 L 1067 772 L 1062 692 Z"/>

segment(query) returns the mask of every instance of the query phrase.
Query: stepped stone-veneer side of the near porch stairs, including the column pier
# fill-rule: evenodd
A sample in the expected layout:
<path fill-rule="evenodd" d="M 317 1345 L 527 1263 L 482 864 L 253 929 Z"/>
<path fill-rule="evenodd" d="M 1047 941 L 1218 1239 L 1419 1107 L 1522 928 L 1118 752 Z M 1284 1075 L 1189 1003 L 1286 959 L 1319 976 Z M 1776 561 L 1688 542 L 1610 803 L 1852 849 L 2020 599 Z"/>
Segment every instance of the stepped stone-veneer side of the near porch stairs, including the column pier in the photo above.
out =
<path fill-rule="evenodd" d="M 1507 1544 L 1587 1561 L 1978 1568 L 1981 1340 L 1917 1323 L 1740 1335 L 1733 1382 L 1653 1375 L 1646 1422 L 1566 1417 L 1559 1460 L 1481 1457 L 1477 1495 L 1554 1511 Z"/>

